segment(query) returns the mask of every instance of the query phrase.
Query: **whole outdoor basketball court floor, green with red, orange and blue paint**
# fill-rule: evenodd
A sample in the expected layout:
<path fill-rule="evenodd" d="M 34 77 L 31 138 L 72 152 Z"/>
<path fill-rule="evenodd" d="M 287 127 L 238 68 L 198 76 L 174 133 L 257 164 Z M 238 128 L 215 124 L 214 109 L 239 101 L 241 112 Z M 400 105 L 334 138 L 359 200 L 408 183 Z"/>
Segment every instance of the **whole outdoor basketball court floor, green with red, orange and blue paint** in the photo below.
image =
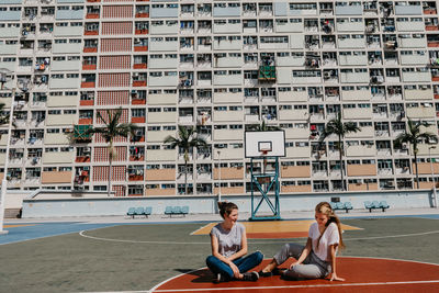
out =
<path fill-rule="evenodd" d="M 438 214 L 341 221 L 347 248 L 340 251 L 337 271 L 346 282 L 274 275 L 214 284 L 205 258 L 211 253 L 209 232 L 217 222 L 190 218 L 8 223 L 10 233 L 0 238 L 0 281 L 4 292 L 439 291 Z M 266 263 L 283 244 L 305 244 L 312 222 L 241 223 L 250 236 L 249 252 L 260 250 Z"/>

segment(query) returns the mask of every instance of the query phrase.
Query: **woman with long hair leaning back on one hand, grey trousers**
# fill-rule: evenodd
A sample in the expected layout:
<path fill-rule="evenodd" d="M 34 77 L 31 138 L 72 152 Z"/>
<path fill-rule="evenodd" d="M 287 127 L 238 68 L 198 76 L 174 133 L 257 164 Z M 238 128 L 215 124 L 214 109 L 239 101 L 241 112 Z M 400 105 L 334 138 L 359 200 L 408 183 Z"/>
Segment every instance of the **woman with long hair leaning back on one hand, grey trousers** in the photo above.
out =
<path fill-rule="evenodd" d="M 309 227 L 306 246 L 284 245 L 259 275 L 274 274 L 278 266 L 293 257 L 296 261 L 282 273 L 286 280 L 323 279 L 330 274 L 330 281 L 345 281 L 337 275 L 336 270 L 337 249 L 345 247 L 340 221 L 327 202 L 317 204 L 315 219 Z"/>

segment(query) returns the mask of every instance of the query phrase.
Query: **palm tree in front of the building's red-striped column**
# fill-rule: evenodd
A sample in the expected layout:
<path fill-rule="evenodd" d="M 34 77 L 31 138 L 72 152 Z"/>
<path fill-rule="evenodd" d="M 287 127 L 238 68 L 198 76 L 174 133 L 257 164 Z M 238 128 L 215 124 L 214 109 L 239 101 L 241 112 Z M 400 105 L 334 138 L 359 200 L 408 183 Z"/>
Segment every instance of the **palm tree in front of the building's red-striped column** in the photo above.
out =
<path fill-rule="evenodd" d="M 128 137 L 134 136 L 134 131 L 137 128 L 133 123 L 120 123 L 122 109 L 117 110 L 106 110 L 108 119 L 105 120 L 100 112 L 98 112 L 98 120 L 102 121 L 104 126 L 102 127 L 91 127 L 86 134 L 101 134 L 105 143 L 109 144 L 109 187 L 108 193 L 111 194 L 111 177 L 112 177 L 112 164 L 115 157 L 113 142 L 116 136 Z"/>

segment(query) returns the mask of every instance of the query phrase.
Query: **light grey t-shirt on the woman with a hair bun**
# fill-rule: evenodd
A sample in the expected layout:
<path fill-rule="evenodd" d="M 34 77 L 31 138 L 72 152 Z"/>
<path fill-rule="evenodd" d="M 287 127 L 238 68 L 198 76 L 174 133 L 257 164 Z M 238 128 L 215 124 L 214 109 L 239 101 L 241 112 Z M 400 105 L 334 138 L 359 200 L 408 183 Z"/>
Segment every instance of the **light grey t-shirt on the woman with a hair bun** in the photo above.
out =
<path fill-rule="evenodd" d="M 245 233 L 246 227 L 240 223 L 236 223 L 230 230 L 225 230 L 221 224 L 217 224 L 211 230 L 211 235 L 215 235 L 218 239 L 219 255 L 226 258 L 241 249 L 241 240 Z"/>

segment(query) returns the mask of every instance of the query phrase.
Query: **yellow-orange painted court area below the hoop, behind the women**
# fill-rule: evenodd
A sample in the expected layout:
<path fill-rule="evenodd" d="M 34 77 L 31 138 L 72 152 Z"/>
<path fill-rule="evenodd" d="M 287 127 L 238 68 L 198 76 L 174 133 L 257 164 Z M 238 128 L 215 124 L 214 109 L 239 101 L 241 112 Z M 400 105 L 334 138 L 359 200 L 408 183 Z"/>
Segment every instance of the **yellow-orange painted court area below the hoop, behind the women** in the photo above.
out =
<path fill-rule="evenodd" d="M 301 238 L 308 236 L 309 225 L 314 219 L 306 221 L 263 221 L 263 222 L 240 222 L 247 232 L 249 239 L 280 239 Z M 191 235 L 209 235 L 217 223 L 211 223 L 193 232 Z M 361 229 L 358 227 L 341 224 L 344 230 Z"/>

